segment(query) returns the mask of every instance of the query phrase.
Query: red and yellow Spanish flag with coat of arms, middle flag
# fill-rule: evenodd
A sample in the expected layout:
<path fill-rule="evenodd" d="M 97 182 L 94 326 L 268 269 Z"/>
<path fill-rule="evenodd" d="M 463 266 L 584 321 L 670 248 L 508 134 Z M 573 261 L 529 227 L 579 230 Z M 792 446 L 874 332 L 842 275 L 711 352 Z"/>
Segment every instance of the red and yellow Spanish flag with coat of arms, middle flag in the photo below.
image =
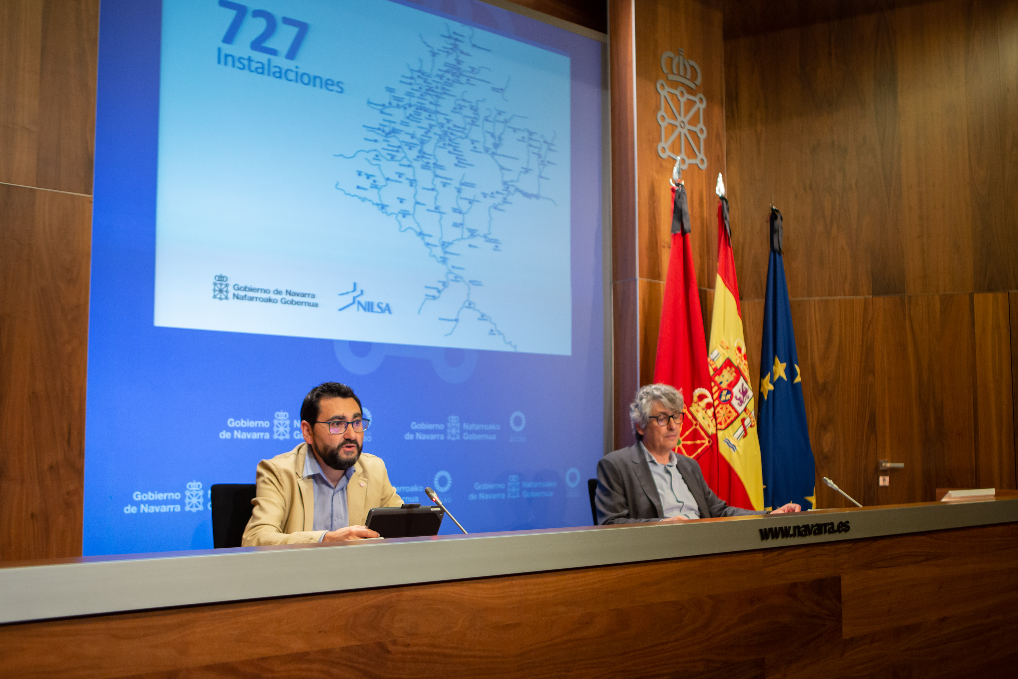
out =
<path fill-rule="evenodd" d="M 718 178 L 719 187 L 721 177 Z M 719 188 L 719 192 L 723 189 Z M 718 203 L 718 279 L 714 292 L 708 367 L 718 427 L 718 450 L 727 461 L 714 492 L 728 504 L 743 509 L 764 509 L 760 445 L 753 415 L 753 388 L 749 381 L 739 285 L 735 280 L 732 231 L 728 200 Z"/>

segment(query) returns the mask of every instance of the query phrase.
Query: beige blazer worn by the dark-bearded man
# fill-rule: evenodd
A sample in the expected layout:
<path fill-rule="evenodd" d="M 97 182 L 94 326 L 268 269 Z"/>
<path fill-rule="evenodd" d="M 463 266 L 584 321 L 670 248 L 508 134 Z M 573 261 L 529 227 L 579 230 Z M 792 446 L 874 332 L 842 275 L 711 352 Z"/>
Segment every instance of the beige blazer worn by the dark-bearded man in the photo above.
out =
<path fill-rule="evenodd" d="M 241 545 L 317 543 L 328 531 L 315 530 L 315 485 L 304 477 L 307 444 L 258 463 L 254 509 Z M 350 525 L 363 525 L 373 507 L 399 507 L 403 499 L 389 483 L 382 458 L 361 453 L 346 485 Z"/>

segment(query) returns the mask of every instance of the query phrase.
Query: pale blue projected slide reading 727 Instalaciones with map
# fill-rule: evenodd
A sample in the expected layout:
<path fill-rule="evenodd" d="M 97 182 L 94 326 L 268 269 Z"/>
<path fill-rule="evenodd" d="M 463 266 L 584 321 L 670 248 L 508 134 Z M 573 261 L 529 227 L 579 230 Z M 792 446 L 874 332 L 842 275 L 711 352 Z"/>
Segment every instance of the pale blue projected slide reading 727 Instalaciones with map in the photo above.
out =
<path fill-rule="evenodd" d="M 155 325 L 570 355 L 569 57 L 266 2 L 164 2 Z"/>

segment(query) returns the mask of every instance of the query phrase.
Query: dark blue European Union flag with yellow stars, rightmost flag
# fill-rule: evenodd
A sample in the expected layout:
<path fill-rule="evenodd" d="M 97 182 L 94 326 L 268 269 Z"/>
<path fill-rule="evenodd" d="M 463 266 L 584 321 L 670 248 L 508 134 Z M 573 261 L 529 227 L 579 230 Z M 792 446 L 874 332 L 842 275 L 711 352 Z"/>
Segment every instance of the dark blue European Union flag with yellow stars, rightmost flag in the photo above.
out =
<path fill-rule="evenodd" d="M 812 509 L 816 505 L 816 466 L 809 447 L 781 241 L 781 213 L 771 208 L 771 261 L 767 269 L 757 413 L 764 505 L 774 509 L 795 502 L 803 509 Z"/>

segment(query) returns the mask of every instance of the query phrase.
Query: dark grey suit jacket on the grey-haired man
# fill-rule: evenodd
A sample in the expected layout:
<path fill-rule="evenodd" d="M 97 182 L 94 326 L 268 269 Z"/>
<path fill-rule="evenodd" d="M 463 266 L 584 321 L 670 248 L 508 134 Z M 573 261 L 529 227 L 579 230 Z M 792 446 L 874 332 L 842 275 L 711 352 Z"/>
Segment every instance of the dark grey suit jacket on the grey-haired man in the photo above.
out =
<path fill-rule="evenodd" d="M 714 494 L 703 479 L 699 465 L 685 455 L 678 456 L 678 469 L 689 487 L 700 518 L 766 514 L 728 504 Z M 640 523 L 660 521 L 661 497 L 654 485 L 651 467 L 639 445 L 609 453 L 598 462 L 598 491 L 593 497 L 598 523 Z"/>

